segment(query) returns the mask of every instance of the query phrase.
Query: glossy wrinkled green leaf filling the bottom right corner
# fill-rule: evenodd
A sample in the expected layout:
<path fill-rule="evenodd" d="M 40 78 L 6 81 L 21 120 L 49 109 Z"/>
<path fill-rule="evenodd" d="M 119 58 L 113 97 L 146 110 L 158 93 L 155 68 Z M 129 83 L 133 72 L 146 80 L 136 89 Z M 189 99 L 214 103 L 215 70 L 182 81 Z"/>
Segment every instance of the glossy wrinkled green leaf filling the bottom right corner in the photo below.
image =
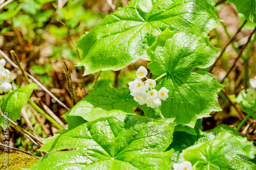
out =
<path fill-rule="evenodd" d="M 255 169 L 256 164 L 238 159 L 242 155 L 254 158 L 256 150 L 252 142 L 226 126 L 216 128 L 201 138 L 196 145 L 183 150 L 185 161 L 196 164 L 195 169 Z"/>

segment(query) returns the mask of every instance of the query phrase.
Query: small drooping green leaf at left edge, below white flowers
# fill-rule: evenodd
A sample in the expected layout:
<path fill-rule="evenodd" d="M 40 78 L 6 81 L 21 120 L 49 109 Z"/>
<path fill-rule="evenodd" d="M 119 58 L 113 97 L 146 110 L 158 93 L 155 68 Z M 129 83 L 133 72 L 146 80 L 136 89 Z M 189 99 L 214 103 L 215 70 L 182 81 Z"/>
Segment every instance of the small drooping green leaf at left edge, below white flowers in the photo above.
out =
<path fill-rule="evenodd" d="M 21 87 L 19 89 L 13 90 L 11 93 L 6 94 L 4 98 L 0 99 L 0 107 L 4 115 L 8 115 L 8 118 L 14 122 L 20 118 L 20 113 L 22 108 L 28 103 L 31 93 L 37 85 L 31 83 L 27 86 Z M 0 125 L 5 127 L 5 119 L 0 116 Z M 8 126 L 10 123 L 8 122 Z"/>

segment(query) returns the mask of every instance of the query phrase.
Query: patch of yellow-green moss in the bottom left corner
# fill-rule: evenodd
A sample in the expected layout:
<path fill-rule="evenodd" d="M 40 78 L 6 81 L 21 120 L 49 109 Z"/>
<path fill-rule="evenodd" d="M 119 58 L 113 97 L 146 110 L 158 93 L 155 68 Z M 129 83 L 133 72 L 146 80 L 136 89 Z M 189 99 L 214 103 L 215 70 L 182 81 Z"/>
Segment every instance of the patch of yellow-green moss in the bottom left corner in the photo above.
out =
<path fill-rule="evenodd" d="M 17 153 L 8 153 L 8 166 L 5 165 L 5 153 L 0 153 L 0 169 L 5 170 L 16 170 L 20 169 L 19 167 L 29 168 L 31 167 L 38 159 L 34 156 L 27 154 L 17 154 Z"/>

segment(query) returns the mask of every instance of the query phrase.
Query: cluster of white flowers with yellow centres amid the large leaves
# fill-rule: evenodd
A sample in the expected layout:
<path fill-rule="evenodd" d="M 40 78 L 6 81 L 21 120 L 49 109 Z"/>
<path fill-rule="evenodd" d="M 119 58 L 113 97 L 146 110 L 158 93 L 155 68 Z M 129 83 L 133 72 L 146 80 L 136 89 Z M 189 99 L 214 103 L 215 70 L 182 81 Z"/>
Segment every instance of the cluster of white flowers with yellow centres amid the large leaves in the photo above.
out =
<path fill-rule="evenodd" d="M 142 78 L 146 77 L 147 70 L 145 67 L 140 66 L 136 72 L 136 78 L 133 82 L 129 82 L 129 89 L 131 95 L 134 96 L 134 100 L 140 105 L 146 104 L 147 107 L 159 107 L 161 106 L 161 100 L 168 98 L 169 90 L 162 87 L 159 91 L 152 89 L 156 87 L 155 80 L 147 79 L 142 82 Z M 149 91 L 148 91 L 149 90 Z"/>

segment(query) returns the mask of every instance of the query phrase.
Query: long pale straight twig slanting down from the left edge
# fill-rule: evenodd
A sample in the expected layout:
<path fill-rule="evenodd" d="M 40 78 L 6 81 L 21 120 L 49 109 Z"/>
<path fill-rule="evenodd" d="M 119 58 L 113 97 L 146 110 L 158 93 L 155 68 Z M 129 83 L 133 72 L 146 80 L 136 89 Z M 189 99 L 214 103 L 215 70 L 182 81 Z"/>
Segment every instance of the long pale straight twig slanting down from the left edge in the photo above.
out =
<path fill-rule="evenodd" d="M 2 51 L 0 50 L 0 54 L 16 69 L 19 69 L 18 66 L 12 62 L 12 60 Z M 31 76 L 30 74 L 28 74 L 28 72 L 26 72 L 26 75 L 32 79 L 36 84 L 38 84 L 38 86 L 40 86 L 42 88 L 42 90 L 44 90 L 45 92 L 49 93 L 51 95 L 51 97 L 56 100 L 57 103 L 59 103 L 62 107 L 64 107 L 67 110 L 70 110 L 65 104 L 63 104 L 60 100 L 58 100 L 58 98 L 55 97 L 55 95 L 53 95 L 44 85 L 42 85 L 38 80 L 36 80 L 33 76 Z"/>

